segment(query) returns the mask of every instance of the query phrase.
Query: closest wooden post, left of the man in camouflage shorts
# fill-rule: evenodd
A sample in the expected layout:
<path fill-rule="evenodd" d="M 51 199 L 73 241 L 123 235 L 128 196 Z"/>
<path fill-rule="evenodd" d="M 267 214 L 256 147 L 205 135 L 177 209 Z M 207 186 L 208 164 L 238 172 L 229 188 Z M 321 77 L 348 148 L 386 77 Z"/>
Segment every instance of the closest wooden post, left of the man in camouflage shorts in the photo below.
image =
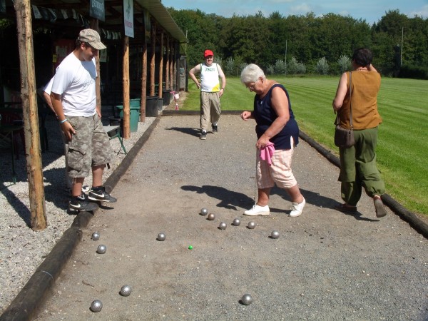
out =
<path fill-rule="evenodd" d="M 16 0 L 16 29 L 18 29 L 19 65 L 21 68 L 21 99 L 24 115 L 25 155 L 31 228 L 44 230 L 48 226 L 44 198 L 43 165 L 41 163 L 39 113 L 37 110 L 36 76 L 34 74 L 33 29 L 30 0 Z"/>

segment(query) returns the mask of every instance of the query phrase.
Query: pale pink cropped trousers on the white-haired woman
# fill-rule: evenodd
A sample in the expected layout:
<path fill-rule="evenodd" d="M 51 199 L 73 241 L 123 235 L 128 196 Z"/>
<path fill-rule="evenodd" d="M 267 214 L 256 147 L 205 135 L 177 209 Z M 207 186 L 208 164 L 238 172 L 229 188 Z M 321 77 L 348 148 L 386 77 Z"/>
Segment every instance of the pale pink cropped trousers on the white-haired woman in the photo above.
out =
<path fill-rule="evenodd" d="M 275 151 L 269 165 L 267 161 L 260 160 L 260 150 L 257 151 L 256 181 L 259 189 L 272 188 L 275 183 L 279 188 L 292 188 L 297 180 L 291 171 L 291 160 L 294 152 L 294 140 L 292 137 L 291 149 L 280 149 Z"/>

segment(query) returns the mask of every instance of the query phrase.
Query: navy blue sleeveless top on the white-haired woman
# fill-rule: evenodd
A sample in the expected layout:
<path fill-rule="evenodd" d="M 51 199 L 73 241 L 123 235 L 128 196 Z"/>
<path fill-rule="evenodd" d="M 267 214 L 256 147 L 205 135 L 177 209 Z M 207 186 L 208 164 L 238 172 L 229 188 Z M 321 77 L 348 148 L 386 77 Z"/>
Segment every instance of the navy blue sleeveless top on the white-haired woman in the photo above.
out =
<path fill-rule="evenodd" d="M 257 125 L 255 126 L 255 133 L 257 134 L 257 138 L 260 138 L 260 136 L 262 136 L 263 133 L 267 131 L 267 128 L 269 128 L 270 125 L 272 125 L 273 121 L 275 121 L 275 119 L 277 118 L 277 114 L 272 108 L 270 101 L 272 96 L 272 89 L 275 87 L 282 88 L 282 90 L 285 91 L 285 94 L 287 95 L 288 113 L 290 113 L 290 119 L 287 121 L 284 128 L 282 128 L 282 131 L 270 138 L 270 141 L 274 143 L 275 150 L 290 149 L 290 136 L 292 136 L 292 138 L 294 139 L 295 146 L 297 145 L 297 143 L 299 143 L 299 126 L 297 126 L 297 122 L 295 121 L 294 114 L 291 110 L 290 96 L 288 96 L 287 89 L 285 89 L 285 87 L 280 85 L 279 83 L 270 87 L 265 97 L 261 99 L 258 95 L 255 95 L 254 97 L 253 116 L 255 118 L 255 123 L 257 123 Z"/>

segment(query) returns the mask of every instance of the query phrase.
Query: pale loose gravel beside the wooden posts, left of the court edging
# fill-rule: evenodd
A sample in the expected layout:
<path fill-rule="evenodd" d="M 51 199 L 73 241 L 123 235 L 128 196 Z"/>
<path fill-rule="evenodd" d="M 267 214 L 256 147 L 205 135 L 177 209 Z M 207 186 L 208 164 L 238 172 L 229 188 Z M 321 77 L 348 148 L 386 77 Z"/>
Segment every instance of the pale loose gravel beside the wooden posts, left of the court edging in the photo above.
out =
<path fill-rule="evenodd" d="M 146 118 L 138 123 L 138 131 L 131 138 L 123 140 L 129 151 L 143 135 L 155 118 Z M 104 125 L 108 125 L 103 121 Z M 63 232 L 70 228 L 76 215 L 68 214 L 68 193 L 64 183 L 63 145 L 54 117 L 48 116 L 46 128 L 49 134 L 49 151 L 42 153 L 44 166 L 44 187 L 48 228 L 34 232 L 29 228 L 29 184 L 26 178 L 26 159 L 21 149 L 16 161 L 18 180 L 12 183 L 11 156 L 6 149 L 0 153 L 0 314 L 19 293 L 36 268 L 51 251 Z M 106 169 L 104 179 L 126 156 L 117 138 L 111 140 L 114 158 L 111 168 Z M 120 152 L 119 152 L 120 151 Z M 91 185 L 91 179 L 85 181 Z"/>

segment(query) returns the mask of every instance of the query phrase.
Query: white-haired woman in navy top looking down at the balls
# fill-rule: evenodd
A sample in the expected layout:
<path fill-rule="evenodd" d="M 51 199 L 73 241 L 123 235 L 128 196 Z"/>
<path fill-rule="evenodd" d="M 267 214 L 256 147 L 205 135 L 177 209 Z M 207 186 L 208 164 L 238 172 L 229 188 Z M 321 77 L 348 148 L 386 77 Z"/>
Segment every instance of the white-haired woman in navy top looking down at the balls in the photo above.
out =
<path fill-rule="evenodd" d="M 300 193 L 291 170 L 292 154 L 299 139 L 299 127 L 292 113 L 287 89 L 266 78 L 263 70 L 251 63 L 240 76 L 241 82 L 255 93 L 253 111 L 243 111 L 244 121 L 255 119 L 258 141 L 257 173 L 258 200 L 245 215 L 269 215 L 270 190 L 276 184 L 284 188 L 292 200 L 290 216 L 302 214 L 305 198 Z"/>

